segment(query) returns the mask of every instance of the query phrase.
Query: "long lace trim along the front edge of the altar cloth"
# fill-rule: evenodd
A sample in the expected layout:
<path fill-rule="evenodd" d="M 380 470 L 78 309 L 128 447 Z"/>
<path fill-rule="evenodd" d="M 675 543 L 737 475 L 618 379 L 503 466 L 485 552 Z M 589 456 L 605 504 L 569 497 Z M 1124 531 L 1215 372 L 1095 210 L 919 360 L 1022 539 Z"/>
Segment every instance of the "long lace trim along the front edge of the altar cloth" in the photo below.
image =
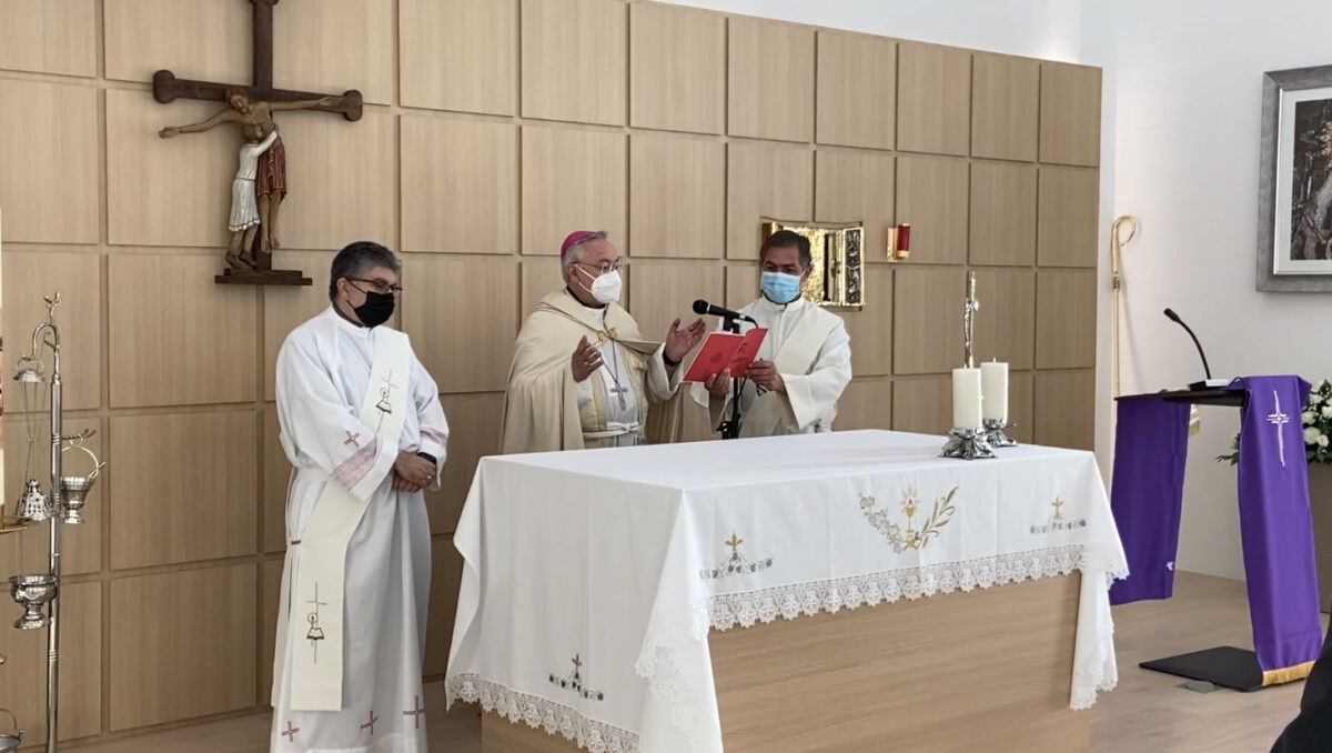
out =
<path fill-rule="evenodd" d="M 802 614 L 835 613 L 843 606 L 892 604 L 903 596 L 911 600 L 1038 580 L 1068 576 L 1086 570 L 1087 549 L 1082 544 L 1039 549 L 1020 554 L 996 554 L 963 562 L 942 562 L 923 568 L 904 568 L 846 578 L 779 585 L 762 590 L 723 593 L 709 598 L 709 617 L 714 630 L 778 617 L 795 620 Z"/>

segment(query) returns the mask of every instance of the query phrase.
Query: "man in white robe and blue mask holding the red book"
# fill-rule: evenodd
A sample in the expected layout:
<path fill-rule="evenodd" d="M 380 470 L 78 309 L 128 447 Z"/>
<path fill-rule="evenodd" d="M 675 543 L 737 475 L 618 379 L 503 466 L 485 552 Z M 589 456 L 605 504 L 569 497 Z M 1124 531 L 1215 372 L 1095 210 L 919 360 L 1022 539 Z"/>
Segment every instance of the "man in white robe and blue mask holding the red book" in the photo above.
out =
<path fill-rule="evenodd" d="M 801 297 L 811 267 L 810 241 L 773 233 L 759 251 L 762 295 L 739 309 L 767 329 L 741 386 L 741 436 L 831 432 L 842 390 L 851 382 L 851 337 L 842 317 Z M 734 382 L 723 371 L 690 394 L 717 428 L 730 417 Z"/>

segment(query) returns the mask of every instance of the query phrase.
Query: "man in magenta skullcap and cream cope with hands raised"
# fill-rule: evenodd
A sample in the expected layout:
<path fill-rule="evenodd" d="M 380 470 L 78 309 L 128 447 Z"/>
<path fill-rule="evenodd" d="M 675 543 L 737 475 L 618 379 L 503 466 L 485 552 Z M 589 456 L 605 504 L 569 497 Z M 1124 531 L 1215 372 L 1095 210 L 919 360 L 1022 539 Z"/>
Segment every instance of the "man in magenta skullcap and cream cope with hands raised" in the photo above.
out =
<path fill-rule="evenodd" d="M 570 233 L 559 255 L 565 285 L 542 299 L 514 345 L 501 452 L 670 441 L 674 413 L 650 421 L 649 408 L 675 396 L 703 321 L 681 329 L 677 319 L 665 343 L 647 341 L 619 305 L 619 253 L 605 232 Z"/>

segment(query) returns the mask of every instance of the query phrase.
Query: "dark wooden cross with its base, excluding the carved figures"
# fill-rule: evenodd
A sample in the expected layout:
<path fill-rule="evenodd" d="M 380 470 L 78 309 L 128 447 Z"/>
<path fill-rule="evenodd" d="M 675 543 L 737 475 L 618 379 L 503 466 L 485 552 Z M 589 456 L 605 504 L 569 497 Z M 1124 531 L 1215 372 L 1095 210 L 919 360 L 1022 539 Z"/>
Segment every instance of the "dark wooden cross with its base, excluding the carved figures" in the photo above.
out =
<path fill-rule="evenodd" d="M 273 88 L 273 5 L 278 0 L 246 0 L 253 5 L 253 47 L 254 47 L 254 85 L 217 84 L 213 81 L 193 81 L 177 79 L 170 71 L 157 71 L 153 73 L 153 99 L 166 104 L 177 99 L 188 100 L 216 100 L 226 101 L 229 91 L 244 93 L 250 101 L 257 103 L 297 103 L 321 99 L 324 95 L 310 92 L 297 92 L 290 89 Z M 349 89 L 330 104 L 321 104 L 308 109 L 324 112 L 337 112 L 350 121 L 361 119 L 361 92 Z M 253 245 L 254 269 L 237 271 L 228 269 L 226 273 L 216 277 L 217 283 L 241 283 L 258 285 L 309 285 L 310 280 L 296 271 L 278 271 L 272 268 L 269 253 L 261 247 L 261 237 L 256 236 Z"/>

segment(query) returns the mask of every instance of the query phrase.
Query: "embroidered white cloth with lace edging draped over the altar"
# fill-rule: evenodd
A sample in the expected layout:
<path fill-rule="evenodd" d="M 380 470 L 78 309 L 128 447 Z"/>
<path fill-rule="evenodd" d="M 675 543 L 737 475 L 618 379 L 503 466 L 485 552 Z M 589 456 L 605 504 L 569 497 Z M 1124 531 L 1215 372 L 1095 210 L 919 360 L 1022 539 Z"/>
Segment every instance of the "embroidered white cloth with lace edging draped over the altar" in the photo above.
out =
<path fill-rule="evenodd" d="M 594 753 L 719 752 L 709 629 L 1080 570 L 1070 706 L 1118 681 L 1095 457 L 866 430 L 482 458 L 449 702 Z"/>

